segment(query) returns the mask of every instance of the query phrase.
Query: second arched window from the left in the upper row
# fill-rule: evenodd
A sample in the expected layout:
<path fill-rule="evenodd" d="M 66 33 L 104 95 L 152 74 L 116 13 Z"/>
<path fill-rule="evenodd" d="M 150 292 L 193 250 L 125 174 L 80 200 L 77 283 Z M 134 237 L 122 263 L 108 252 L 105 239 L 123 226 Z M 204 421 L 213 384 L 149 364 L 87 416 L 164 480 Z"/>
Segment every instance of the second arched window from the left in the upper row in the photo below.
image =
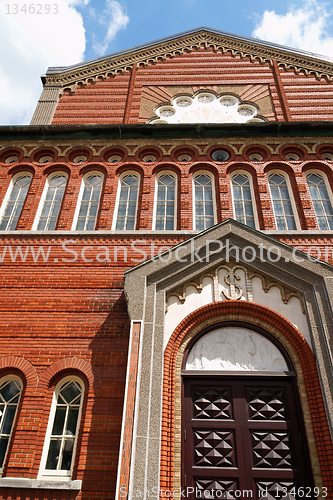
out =
<path fill-rule="evenodd" d="M 49 175 L 33 229 L 38 231 L 53 231 L 55 229 L 66 184 L 67 174 L 57 172 Z"/>

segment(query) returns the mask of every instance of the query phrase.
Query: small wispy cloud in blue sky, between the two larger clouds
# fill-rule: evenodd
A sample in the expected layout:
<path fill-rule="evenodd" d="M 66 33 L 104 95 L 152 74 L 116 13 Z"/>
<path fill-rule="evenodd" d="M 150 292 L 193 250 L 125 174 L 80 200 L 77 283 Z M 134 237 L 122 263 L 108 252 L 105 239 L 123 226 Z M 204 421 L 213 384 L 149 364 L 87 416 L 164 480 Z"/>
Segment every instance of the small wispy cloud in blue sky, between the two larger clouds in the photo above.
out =
<path fill-rule="evenodd" d="M 101 26 L 107 27 L 107 33 L 103 41 L 97 40 L 96 36 L 94 37 L 94 49 L 99 55 L 106 53 L 109 43 L 119 30 L 126 28 L 129 22 L 129 17 L 116 0 L 106 0 L 105 7 L 102 14 L 97 16 L 97 21 Z M 96 15 L 96 12 L 92 11 L 92 14 Z"/>

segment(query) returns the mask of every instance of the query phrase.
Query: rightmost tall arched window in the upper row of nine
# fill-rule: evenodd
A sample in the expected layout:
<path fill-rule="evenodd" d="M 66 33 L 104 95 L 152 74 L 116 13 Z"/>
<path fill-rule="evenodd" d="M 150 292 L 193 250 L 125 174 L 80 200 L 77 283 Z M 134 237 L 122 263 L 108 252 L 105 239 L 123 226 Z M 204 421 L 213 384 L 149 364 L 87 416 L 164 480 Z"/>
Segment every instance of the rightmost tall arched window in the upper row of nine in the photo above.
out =
<path fill-rule="evenodd" d="M 324 178 L 311 173 L 306 178 L 319 229 L 333 229 L 333 208 Z"/>

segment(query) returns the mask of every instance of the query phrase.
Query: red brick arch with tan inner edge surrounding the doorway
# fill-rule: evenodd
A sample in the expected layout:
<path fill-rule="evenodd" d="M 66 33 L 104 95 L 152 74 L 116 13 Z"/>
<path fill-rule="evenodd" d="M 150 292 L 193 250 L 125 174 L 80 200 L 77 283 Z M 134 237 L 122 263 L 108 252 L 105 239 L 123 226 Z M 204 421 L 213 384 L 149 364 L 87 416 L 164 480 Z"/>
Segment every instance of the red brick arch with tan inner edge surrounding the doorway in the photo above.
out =
<path fill-rule="evenodd" d="M 258 304 L 223 301 L 189 314 L 174 330 L 164 353 L 160 488 L 180 487 L 181 363 L 186 346 L 204 328 L 223 321 L 260 326 L 287 350 L 297 372 L 314 479 L 333 493 L 333 444 L 314 355 L 293 324 Z M 175 424 L 176 419 L 176 424 Z"/>

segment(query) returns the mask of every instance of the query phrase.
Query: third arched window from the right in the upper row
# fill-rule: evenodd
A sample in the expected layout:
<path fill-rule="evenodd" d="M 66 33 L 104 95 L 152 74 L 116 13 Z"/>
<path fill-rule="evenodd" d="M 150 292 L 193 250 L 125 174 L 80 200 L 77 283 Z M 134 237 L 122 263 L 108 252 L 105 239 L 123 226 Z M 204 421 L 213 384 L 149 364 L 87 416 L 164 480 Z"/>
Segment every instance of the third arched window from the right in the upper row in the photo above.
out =
<path fill-rule="evenodd" d="M 250 227 L 255 227 L 250 179 L 244 174 L 232 177 L 232 194 L 235 219 Z"/>

